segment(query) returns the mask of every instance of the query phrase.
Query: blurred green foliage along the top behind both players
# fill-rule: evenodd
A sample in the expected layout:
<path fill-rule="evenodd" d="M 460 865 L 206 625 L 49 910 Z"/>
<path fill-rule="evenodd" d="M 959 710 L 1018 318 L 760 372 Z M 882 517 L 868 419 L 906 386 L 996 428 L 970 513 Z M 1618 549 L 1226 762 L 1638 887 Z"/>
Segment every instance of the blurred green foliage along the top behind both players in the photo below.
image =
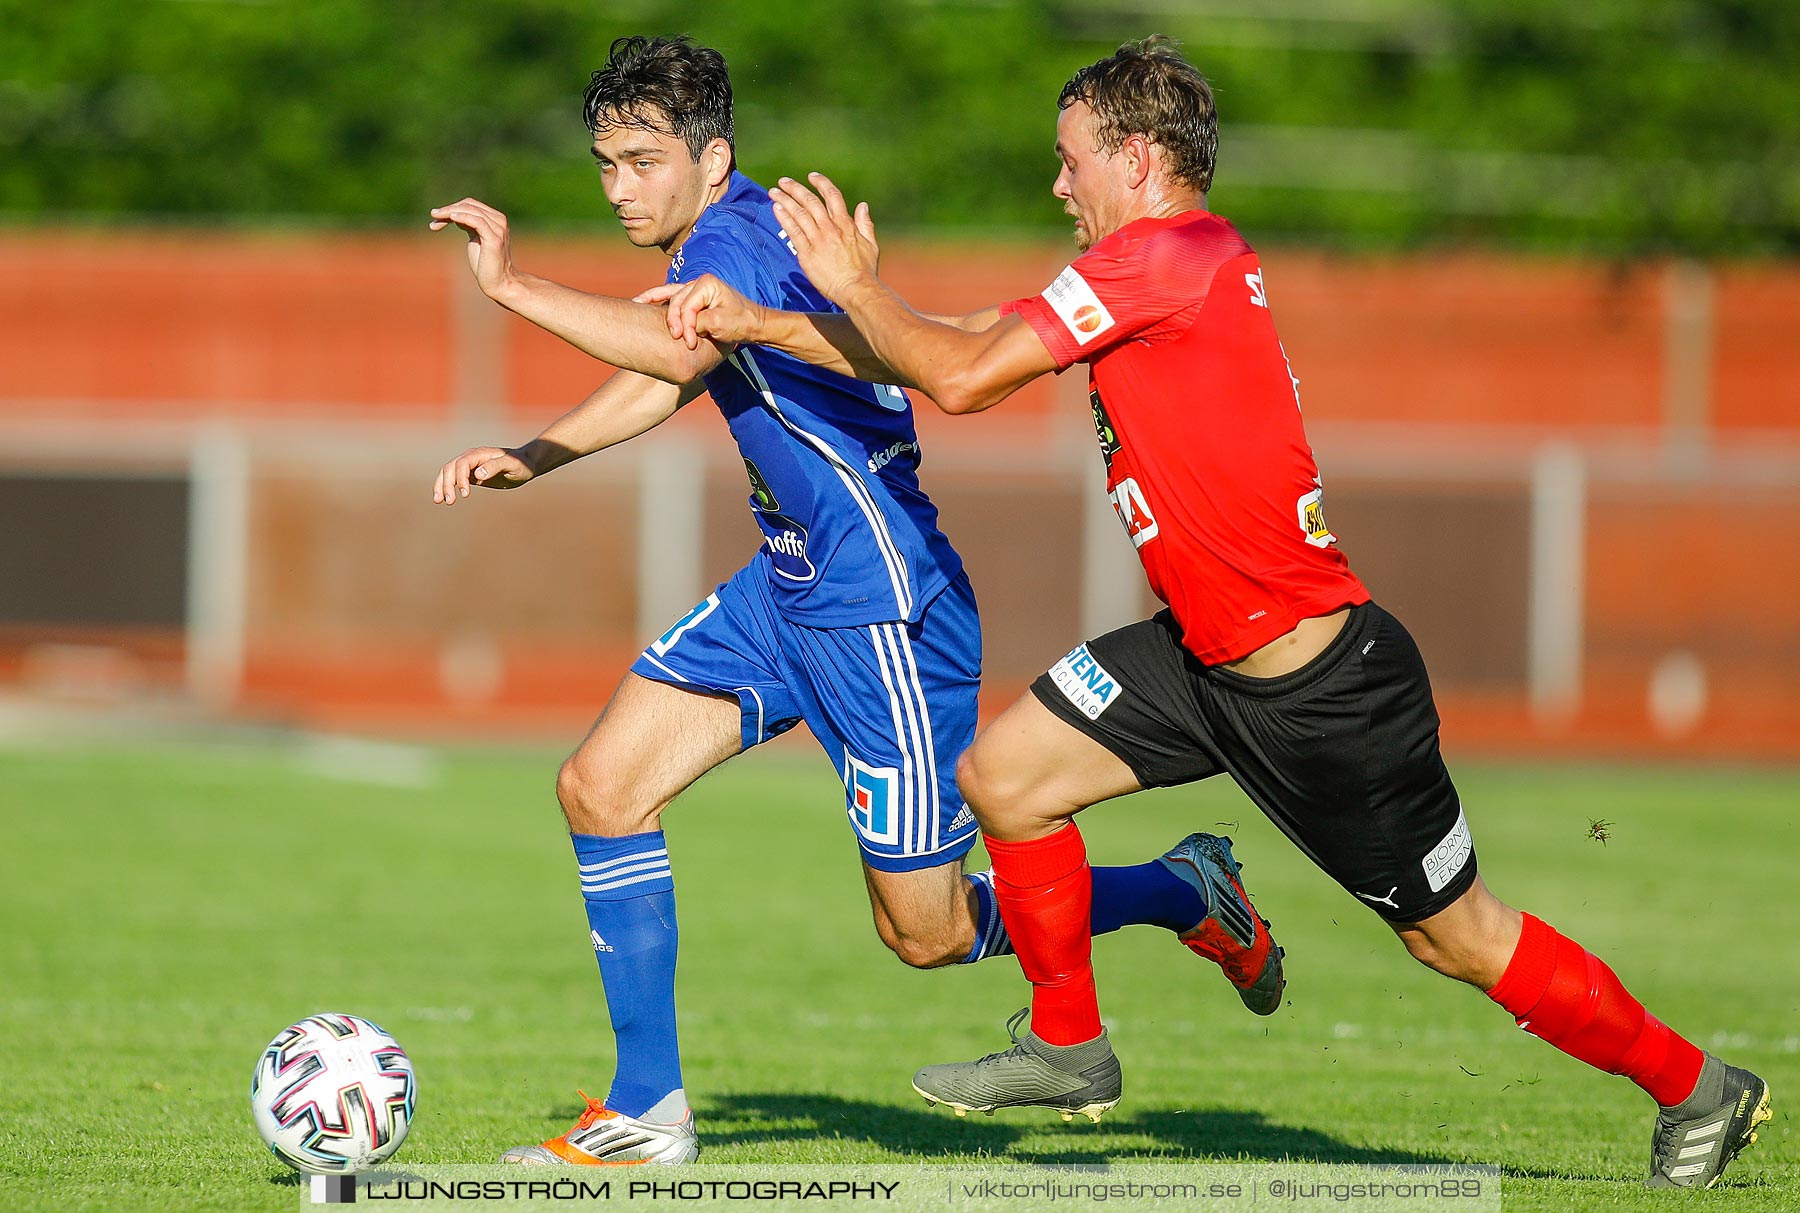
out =
<path fill-rule="evenodd" d="M 889 229 L 1060 230 L 1053 101 L 1165 31 L 1219 90 L 1211 205 L 1260 236 L 1800 248 L 1793 0 L 0 0 L 0 221 L 389 225 L 479 194 L 594 225 L 612 38 L 720 47 L 743 167 Z"/>

